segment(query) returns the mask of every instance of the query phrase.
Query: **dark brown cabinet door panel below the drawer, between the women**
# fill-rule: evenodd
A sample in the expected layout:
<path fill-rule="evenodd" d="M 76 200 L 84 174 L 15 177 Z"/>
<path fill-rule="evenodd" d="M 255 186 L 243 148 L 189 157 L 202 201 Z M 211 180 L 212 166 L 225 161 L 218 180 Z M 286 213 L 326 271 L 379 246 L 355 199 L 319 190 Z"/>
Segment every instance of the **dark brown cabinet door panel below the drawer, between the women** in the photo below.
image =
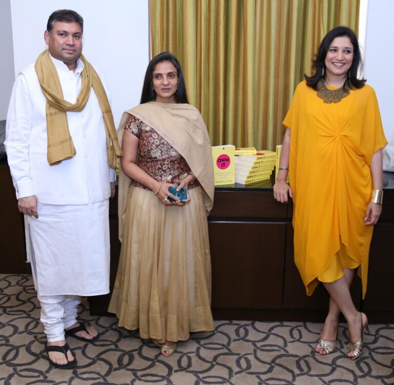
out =
<path fill-rule="evenodd" d="M 213 308 L 281 309 L 285 233 L 285 223 L 209 221 Z"/>

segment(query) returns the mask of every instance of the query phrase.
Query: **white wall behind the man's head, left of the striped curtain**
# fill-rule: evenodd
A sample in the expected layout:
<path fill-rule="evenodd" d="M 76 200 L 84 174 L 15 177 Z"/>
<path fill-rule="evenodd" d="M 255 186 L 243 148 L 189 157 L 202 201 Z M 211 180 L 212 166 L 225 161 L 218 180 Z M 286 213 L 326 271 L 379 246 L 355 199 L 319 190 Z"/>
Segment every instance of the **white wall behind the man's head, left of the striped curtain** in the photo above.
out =
<path fill-rule="evenodd" d="M 148 0 L 11 0 L 15 76 L 47 47 L 48 17 L 63 8 L 84 18 L 83 53 L 105 74 L 117 124 L 140 102 L 149 62 Z"/>

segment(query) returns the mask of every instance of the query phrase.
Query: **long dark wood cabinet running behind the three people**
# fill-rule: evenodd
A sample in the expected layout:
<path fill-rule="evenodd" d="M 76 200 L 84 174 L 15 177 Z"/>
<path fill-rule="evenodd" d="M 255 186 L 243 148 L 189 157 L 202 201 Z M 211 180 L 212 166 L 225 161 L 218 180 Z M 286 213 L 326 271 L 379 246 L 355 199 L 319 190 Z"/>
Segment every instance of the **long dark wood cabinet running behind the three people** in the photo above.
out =
<path fill-rule="evenodd" d="M 6 163 L 0 163 L 0 273 L 29 272 L 26 264 L 23 216 Z M 394 173 L 384 173 L 383 213 L 370 246 L 368 288 L 361 298 L 361 280 L 351 288 L 354 303 L 370 322 L 394 322 Z M 328 295 L 319 285 L 307 297 L 293 258 L 292 203 L 280 204 L 272 188 L 243 185 L 216 187 L 208 217 L 212 261 L 212 313 L 215 319 L 324 320 Z M 109 211 L 111 268 L 115 281 L 121 244 L 118 239 L 117 197 Z M 105 315 L 110 294 L 89 297 L 92 315 Z"/>

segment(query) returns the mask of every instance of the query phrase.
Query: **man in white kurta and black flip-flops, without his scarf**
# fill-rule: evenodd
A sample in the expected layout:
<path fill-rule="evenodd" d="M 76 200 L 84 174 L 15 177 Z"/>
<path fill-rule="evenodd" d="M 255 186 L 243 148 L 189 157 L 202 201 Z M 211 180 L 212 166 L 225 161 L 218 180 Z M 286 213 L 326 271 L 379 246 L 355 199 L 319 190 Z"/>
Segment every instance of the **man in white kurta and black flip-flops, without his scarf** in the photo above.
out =
<path fill-rule="evenodd" d="M 44 35 L 63 99 L 72 104 L 85 67 L 79 59 L 82 31 L 82 17 L 62 10 L 50 16 Z M 49 359 L 55 367 L 70 368 L 76 360 L 65 330 L 67 334 L 80 326 L 76 316 L 81 296 L 109 293 L 108 199 L 114 195 L 115 171 L 108 165 L 105 123 L 93 89 L 82 111 L 67 112 L 75 156 L 55 165 L 47 161 L 46 104 L 33 63 L 16 78 L 5 145 L 18 207 L 28 219 Z M 97 331 L 85 326 L 72 336 L 89 341 L 97 338 Z M 63 352 L 48 348 L 53 346 Z"/>

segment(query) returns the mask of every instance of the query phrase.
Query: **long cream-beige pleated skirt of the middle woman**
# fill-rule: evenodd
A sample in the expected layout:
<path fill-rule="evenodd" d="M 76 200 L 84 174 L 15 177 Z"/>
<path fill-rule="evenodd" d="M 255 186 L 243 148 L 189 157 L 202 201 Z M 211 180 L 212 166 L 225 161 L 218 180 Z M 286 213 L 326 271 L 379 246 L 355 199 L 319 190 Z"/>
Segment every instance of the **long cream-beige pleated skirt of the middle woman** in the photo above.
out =
<path fill-rule="evenodd" d="M 201 187 L 182 207 L 164 206 L 152 191 L 132 186 L 121 257 L 108 311 L 141 338 L 184 341 L 214 329 L 211 260 Z"/>

